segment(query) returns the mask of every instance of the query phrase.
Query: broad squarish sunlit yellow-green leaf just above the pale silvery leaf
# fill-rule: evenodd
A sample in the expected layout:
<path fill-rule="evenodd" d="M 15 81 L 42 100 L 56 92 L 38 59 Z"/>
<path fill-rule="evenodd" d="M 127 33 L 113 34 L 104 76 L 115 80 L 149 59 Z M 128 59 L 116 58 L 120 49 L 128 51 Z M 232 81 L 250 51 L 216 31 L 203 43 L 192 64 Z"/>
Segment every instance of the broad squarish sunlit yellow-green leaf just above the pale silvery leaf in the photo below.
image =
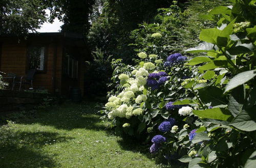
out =
<path fill-rule="evenodd" d="M 208 43 L 217 44 L 217 37 L 220 35 L 219 29 L 203 29 L 199 35 L 199 39 Z"/>

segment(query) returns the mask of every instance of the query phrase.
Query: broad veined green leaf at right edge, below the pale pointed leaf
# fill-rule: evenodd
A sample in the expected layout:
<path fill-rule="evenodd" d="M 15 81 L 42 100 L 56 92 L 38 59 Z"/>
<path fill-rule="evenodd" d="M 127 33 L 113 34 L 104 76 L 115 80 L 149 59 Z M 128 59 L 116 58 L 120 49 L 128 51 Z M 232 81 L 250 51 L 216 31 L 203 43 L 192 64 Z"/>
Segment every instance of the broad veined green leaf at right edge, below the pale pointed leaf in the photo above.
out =
<path fill-rule="evenodd" d="M 241 113 L 237 115 L 236 118 L 230 123 L 231 126 L 234 126 L 243 131 L 254 131 L 256 130 L 256 107 L 242 110 Z"/>

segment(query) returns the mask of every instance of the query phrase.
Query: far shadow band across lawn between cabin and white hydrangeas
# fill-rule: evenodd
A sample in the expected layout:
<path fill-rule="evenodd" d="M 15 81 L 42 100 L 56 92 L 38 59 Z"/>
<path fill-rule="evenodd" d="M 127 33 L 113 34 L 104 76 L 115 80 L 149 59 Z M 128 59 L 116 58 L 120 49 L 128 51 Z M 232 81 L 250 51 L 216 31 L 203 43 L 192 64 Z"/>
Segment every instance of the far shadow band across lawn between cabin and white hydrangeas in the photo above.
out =
<path fill-rule="evenodd" d="M 5 117 L 4 120 L 10 120 L 15 123 L 54 126 L 57 129 L 72 130 L 77 128 L 92 129 L 95 131 L 106 130 L 107 123 L 101 122 L 100 105 L 97 103 L 64 103 L 60 106 L 36 110 L 34 113 L 26 111 L 26 113 L 11 114 L 10 118 Z"/>

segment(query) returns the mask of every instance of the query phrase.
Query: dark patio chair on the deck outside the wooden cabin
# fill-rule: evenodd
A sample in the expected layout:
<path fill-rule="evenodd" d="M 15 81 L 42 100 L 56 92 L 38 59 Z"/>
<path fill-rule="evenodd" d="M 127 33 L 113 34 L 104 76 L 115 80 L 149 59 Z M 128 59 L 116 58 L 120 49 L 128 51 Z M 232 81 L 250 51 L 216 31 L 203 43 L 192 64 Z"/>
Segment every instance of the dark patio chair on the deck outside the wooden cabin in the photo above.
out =
<path fill-rule="evenodd" d="M 22 88 L 22 84 L 31 85 L 31 88 L 33 88 L 34 74 L 35 74 L 35 69 L 31 69 L 31 70 L 28 71 L 26 76 L 15 76 L 14 79 L 13 79 L 12 90 L 14 89 L 15 83 L 19 83 L 19 91 Z M 20 80 L 16 81 L 16 79 L 20 79 Z"/>

